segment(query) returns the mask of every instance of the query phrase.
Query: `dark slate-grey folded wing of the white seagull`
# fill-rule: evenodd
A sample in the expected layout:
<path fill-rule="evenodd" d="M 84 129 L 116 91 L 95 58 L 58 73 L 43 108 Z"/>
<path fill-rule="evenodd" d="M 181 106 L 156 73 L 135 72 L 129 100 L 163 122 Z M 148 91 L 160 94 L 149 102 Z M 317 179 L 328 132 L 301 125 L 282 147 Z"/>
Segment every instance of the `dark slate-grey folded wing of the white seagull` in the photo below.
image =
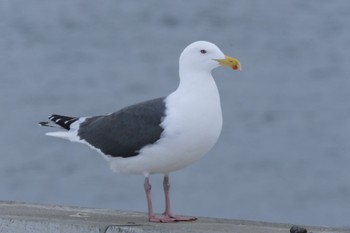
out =
<path fill-rule="evenodd" d="M 149 100 L 123 108 L 106 116 L 87 118 L 78 136 L 112 157 L 136 156 L 139 150 L 156 142 L 163 128 L 164 98 Z"/>

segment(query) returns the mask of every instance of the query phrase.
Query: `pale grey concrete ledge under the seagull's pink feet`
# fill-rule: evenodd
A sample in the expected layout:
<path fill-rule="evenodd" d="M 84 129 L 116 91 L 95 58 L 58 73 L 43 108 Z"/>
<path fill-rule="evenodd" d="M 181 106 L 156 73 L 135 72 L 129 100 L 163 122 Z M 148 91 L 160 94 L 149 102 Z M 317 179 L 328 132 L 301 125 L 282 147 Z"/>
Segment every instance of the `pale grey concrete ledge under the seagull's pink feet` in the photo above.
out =
<path fill-rule="evenodd" d="M 0 201 L 0 233 L 288 233 L 291 226 L 204 217 L 192 223 L 155 224 L 147 221 L 145 213 Z M 350 232 L 350 229 L 305 228 L 313 233 Z"/>

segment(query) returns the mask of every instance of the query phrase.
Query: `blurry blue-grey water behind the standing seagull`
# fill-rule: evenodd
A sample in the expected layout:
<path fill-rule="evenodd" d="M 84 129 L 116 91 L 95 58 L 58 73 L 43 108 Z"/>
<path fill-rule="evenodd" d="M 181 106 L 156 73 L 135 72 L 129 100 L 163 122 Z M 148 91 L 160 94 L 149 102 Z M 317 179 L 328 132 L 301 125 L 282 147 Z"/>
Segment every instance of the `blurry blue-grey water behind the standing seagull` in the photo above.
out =
<path fill-rule="evenodd" d="M 171 176 L 174 212 L 349 227 L 349 28 L 347 0 L 1 0 L 0 200 L 145 211 L 143 177 L 37 122 L 165 96 L 208 40 L 243 71 L 213 72 L 223 132 Z"/>

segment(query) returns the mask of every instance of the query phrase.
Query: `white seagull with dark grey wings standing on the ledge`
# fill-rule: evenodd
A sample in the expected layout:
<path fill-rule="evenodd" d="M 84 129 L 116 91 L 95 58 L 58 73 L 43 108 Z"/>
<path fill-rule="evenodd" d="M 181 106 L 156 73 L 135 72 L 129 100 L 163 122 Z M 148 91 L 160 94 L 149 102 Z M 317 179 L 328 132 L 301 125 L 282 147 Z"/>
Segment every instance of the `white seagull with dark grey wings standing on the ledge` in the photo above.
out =
<path fill-rule="evenodd" d="M 175 216 L 170 208 L 169 173 L 202 158 L 216 143 L 222 128 L 219 91 L 211 71 L 219 66 L 240 70 L 240 62 L 225 56 L 213 43 L 197 41 L 180 55 L 178 88 L 170 95 L 134 104 L 108 115 L 71 117 L 53 114 L 41 126 L 64 131 L 46 133 L 87 144 L 115 172 L 143 175 L 150 222 L 194 221 Z M 163 174 L 165 211 L 153 212 L 150 175 Z"/>

